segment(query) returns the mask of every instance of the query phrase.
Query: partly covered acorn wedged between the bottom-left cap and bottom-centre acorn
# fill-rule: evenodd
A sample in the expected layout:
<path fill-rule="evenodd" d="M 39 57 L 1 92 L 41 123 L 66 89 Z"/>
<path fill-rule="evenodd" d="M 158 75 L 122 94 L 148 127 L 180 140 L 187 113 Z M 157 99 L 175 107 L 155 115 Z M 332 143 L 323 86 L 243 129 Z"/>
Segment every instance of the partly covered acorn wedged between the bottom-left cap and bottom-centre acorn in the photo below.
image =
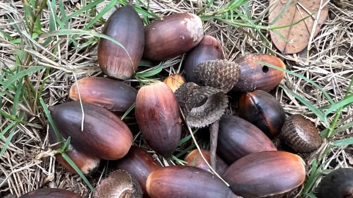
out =
<path fill-rule="evenodd" d="M 126 170 L 132 174 L 139 181 L 143 192 L 146 194 L 148 175 L 162 166 L 151 154 L 137 146 L 132 146 L 125 157 L 112 162 L 112 167 L 113 169 Z"/>

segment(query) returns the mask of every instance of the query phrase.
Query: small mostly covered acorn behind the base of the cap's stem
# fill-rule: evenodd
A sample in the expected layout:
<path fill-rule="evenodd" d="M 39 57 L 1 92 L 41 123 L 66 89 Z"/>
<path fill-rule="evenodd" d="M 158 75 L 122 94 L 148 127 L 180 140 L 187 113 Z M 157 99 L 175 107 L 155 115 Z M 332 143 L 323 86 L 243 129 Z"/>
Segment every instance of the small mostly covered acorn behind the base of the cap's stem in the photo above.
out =
<path fill-rule="evenodd" d="M 203 156 L 206 158 L 208 164 L 210 164 L 210 152 L 205 149 L 201 149 Z M 196 160 L 196 161 L 195 161 Z M 184 161 L 188 162 L 188 166 L 195 166 L 198 168 L 202 168 L 212 173 L 212 170 L 206 164 L 206 162 L 202 159 L 200 152 L 198 149 L 192 150 L 187 156 L 185 156 Z M 228 165 L 218 156 L 216 156 L 216 172 L 218 174 L 223 174 L 225 170 L 228 168 Z"/>

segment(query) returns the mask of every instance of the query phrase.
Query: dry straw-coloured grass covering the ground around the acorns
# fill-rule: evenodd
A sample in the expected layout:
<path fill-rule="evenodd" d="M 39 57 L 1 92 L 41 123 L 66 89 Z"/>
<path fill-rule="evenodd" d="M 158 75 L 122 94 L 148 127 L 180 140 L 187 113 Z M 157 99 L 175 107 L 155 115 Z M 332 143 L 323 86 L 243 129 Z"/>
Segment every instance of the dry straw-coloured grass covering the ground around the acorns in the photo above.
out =
<path fill-rule="evenodd" d="M 349 4 L 348 1 L 340 2 L 342 5 Z M 174 12 L 196 13 L 201 4 L 201 1 L 192 0 L 152 0 L 150 1 L 150 9 L 159 16 Z M 215 1 L 215 5 L 219 7 L 225 4 L 224 1 Z M 83 6 L 76 1 L 65 1 L 64 5 L 67 15 Z M 309 57 L 302 54 L 282 55 L 277 52 L 276 54 L 283 58 L 287 69 L 313 80 L 327 91 L 335 102 L 338 102 L 347 90 L 350 83 L 349 79 L 353 77 L 353 10 L 351 9 L 353 5 L 348 5 L 346 9 L 338 8 L 331 3 L 328 5 L 328 19 L 319 35 L 311 43 Z M 249 2 L 251 16 L 254 19 L 266 21 L 266 9 L 268 7 L 268 1 Z M 42 30 L 45 32 L 49 31 L 49 13 L 50 11 L 44 8 L 41 15 Z M 14 22 L 10 22 L 6 15 L 11 16 Z M 58 16 L 61 18 L 60 14 Z M 3 1 L 0 3 L 0 29 L 14 38 L 23 39 L 20 45 L 12 44 L 0 33 L 0 68 L 13 68 L 18 65 L 13 55 L 15 49 L 27 50 L 32 57 L 27 64 L 22 65 L 23 67 L 35 65 L 51 67 L 41 95 L 47 105 L 68 101 L 68 89 L 75 81 L 73 73 L 76 74 L 77 78 L 101 74 L 97 63 L 96 43 L 74 49 L 69 46 L 69 40 L 66 37 L 54 37 L 46 48 L 41 48 L 35 45 L 39 41 L 36 42 L 31 38 L 23 19 L 24 7 L 21 2 Z M 69 21 L 69 27 L 70 29 L 83 29 L 84 25 L 89 23 L 91 19 L 89 14 L 81 14 Z M 17 24 L 20 32 L 13 28 L 11 25 L 13 23 Z M 102 25 L 101 22 L 97 22 L 91 29 L 101 32 Z M 251 28 L 230 27 L 217 21 L 206 22 L 204 28 L 206 34 L 216 37 L 223 44 L 224 55 L 229 60 L 248 53 L 271 53 L 273 50 L 275 51 L 271 43 L 266 46 L 255 30 Z M 262 32 L 270 39 L 267 31 Z M 92 36 L 81 36 L 77 39 L 77 42 L 81 45 L 92 38 Z M 46 39 L 40 38 L 40 40 Z M 54 51 L 57 51 L 55 55 L 53 54 Z M 166 61 L 164 70 L 169 73 L 179 71 L 182 60 L 183 56 Z M 44 77 L 44 70 L 40 70 L 30 74 L 28 80 L 38 89 L 43 83 Z M 322 92 L 299 77 L 286 74 L 281 85 L 300 94 L 317 107 L 329 105 Z M 317 125 L 320 131 L 326 128 L 314 114 L 310 113 L 308 107 L 284 89 L 279 88 L 276 97 L 281 101 L 288 114 L 303 113 Z M 13 98 L 4 95 L 1 100 L 1 109 L 11 114 Z M 79 176 L 64 170 L 52 156 L 47 140 L 46 119 L 41 108 L 30 101 L 21 101 L 16 110 L 16 115 L 19 115 L 20 110 L 25 112 L 23 120 L 29 123 L 19 123 L 14 128 L 12 141 L 0 159 L 0 197 L 20 196 L 25 192 L 43 186 L 65 188 L 80 193 L 83 197 L 90 197 L 89 188 L 83 180 Z M 339 122 L 353 122 L 352 115 L 353 106 L 343 109 Z M 328 120 L 332 121 L 333 119 L 334 114 L 330 114 Z M 12 119 L 1 117 L 0 131 L 5 130 L 12 123 Z M 0 139 L 0 148 L 5 145 L 7 136 L 5 135 Z M 344 139 L 352 136 L 353 131 L 350 128 L 338 133 L 332 139 Z M 137 135 L 135 138 L 136 143 L 144 143 L 141 136 Z M 202 143 L 202 145 L 206 147 L 207 144 Z M 308 172 L 314 157 L 320 155 L 320 152 L 327 146 L 326 141 L 316 153 L 304 156 L 308 163 Z M 156 154 L 154 156 L 158 158 Z M 158 160 L 164 165 L 178 163 L 175 161 L 167 162 L 164 159 Z M 353 167 L 353 149 L 351 147 L 333 147 L 329 155 L 324 156 L 323 164 L 324 169 Z M 106 173 L 107 169 L 101 167 L 90 178 L 91 183 L 95 185 Z M 316 184 L 319 181 L 320 178 L 316 181 Z"/>

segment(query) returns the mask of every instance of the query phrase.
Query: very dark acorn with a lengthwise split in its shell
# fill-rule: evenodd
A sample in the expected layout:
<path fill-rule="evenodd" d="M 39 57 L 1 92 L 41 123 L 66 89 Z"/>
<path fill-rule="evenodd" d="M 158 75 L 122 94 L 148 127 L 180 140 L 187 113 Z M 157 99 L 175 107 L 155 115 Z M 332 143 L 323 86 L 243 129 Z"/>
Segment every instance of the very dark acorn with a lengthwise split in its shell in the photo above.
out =
<path fill-rule="evenodd" d="M 281 104 L 263 90 L 242 94 L 239 99 L 239 116 L 253 123 L 269 137 L 278 136 L 285 121 Z"/>

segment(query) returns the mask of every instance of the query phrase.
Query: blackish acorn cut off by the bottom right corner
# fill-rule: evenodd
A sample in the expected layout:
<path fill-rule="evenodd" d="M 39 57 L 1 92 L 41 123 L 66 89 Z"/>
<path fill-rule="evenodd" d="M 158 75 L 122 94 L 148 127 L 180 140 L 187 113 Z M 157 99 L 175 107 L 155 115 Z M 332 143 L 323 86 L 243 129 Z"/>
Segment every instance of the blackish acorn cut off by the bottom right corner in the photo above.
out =
<path fill-rule="evenodd" d="M 323 177 L 318 186 L 318 198 L 353 197 L 353 168 L 339 168 Z"/>

